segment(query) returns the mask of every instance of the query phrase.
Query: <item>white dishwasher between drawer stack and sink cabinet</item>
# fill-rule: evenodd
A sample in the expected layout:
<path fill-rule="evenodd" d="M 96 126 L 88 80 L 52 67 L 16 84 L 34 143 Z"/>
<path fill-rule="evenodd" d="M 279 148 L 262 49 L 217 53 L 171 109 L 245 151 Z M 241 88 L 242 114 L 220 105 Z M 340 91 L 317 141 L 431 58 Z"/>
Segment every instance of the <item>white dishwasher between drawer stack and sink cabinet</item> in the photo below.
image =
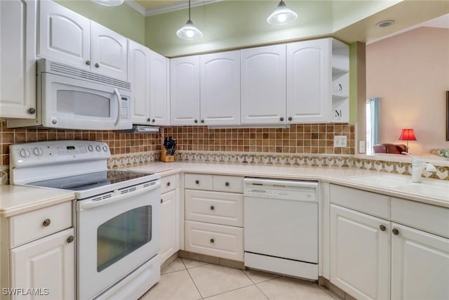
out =
<path fill-rule="evenodd" d="M 245 266 L 318 279 L 318 183 L 245 178 Z"/>

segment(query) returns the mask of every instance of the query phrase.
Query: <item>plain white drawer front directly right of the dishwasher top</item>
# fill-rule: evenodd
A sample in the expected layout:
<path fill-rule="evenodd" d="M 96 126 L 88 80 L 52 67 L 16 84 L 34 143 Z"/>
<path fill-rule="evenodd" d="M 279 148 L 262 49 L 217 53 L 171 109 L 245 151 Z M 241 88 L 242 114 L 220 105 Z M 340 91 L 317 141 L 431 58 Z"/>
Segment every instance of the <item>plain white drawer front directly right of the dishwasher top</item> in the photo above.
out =
<path fill-rule="evenodd" d="M 331 184 L 330 203 L 383 219 L 390 219 L 390 197 L 386 195 Z"/>

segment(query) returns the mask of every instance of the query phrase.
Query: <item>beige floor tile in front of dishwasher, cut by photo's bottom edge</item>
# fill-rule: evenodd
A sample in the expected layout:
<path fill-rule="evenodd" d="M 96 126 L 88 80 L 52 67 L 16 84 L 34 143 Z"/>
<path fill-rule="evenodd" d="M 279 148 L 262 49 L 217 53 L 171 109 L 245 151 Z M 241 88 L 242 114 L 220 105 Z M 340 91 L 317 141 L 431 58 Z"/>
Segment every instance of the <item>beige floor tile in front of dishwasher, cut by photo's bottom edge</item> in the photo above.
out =
<path fill-rule="evenodd" d="M 314 299 L 314 300 L 334 300 L 332 296 L 324 292 L 313 282 L 295 280 L 293 278 L 276 278 L 257 284 L 262 292 L 270 300 L 290 300 L 290 299 Z"/>

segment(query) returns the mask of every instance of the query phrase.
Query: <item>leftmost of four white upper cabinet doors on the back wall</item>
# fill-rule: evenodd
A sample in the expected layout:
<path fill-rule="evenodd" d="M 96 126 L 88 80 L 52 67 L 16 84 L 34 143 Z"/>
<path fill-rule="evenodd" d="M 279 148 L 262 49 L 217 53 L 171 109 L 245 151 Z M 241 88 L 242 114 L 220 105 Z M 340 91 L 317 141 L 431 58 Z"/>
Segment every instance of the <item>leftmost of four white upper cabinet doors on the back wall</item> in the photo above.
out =
<path fill-rule="evenodd" d="M 170 60 L 170 124 L 199 122 L 199 56 Z"/>

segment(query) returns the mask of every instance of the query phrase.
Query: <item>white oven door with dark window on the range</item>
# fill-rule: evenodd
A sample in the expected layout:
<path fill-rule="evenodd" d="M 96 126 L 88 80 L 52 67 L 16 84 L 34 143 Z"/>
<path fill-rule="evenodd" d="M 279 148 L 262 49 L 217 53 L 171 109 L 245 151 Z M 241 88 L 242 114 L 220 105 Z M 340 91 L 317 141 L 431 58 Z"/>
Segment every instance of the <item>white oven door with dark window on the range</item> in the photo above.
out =
<path fill-rule="evenodd" d="M 160 248 L 160 181 L 76 203 L 78 299 L 92 299 Z"/>

